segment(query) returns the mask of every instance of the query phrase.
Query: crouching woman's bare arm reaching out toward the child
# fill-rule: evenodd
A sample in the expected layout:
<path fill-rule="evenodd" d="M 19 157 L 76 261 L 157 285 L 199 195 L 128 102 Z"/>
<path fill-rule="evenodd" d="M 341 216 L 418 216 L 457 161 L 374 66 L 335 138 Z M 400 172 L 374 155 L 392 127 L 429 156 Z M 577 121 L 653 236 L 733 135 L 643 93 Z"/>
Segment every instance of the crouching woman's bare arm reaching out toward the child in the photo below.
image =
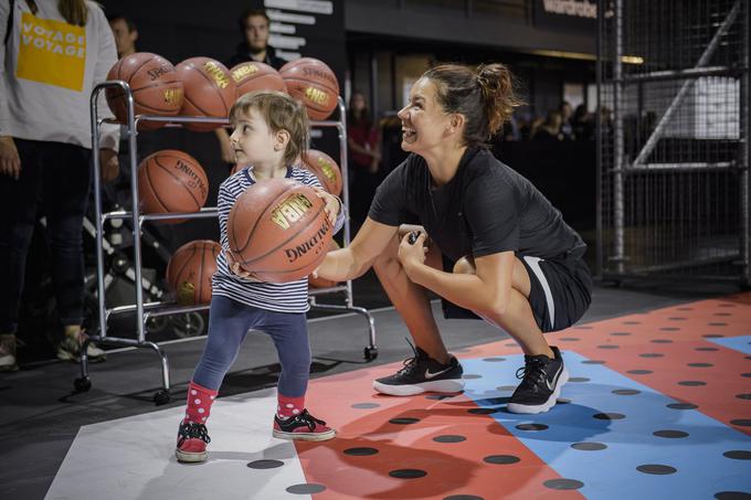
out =
<path fill-rule="evenodd" d="M 398 226 L 366 219 L 364 224 L 347 248 L 329 252 L 315 274 L 332 281 L 345 281 L 363 275 L 381 255 Z"/>

